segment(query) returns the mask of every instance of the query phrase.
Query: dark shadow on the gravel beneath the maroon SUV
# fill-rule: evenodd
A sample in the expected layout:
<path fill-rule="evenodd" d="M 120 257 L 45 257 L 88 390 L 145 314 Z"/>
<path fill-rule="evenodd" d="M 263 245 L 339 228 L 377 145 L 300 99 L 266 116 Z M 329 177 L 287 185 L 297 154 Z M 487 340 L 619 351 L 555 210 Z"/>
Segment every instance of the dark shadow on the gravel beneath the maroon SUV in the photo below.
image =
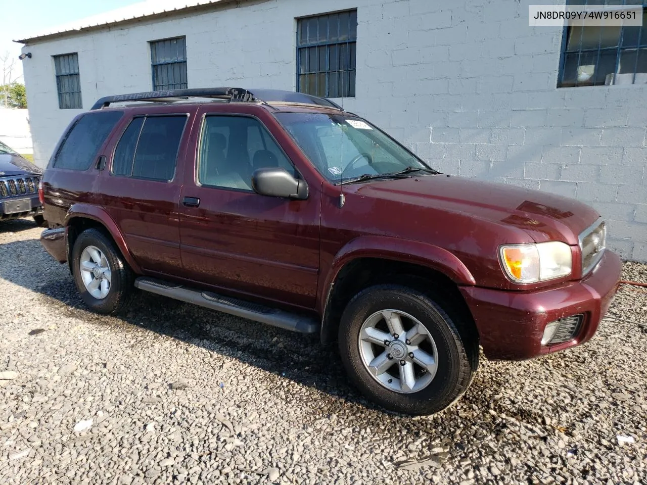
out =
<path fill-rule="evenodd" d="M 136 292 L 123 316 L 102 316 L 87 310 L 67 264 L 53 261 L 39 241 L 0 244 L 0 261 L 10 259 L 16 263 L 1 264 L 0 278 L 38 292 L 48 305 L 58 307 L 66 316 L 122 331 L 149 330 L 335 396 L 334 399 L 313 398 L 313 411 L 317 414 L 347 412 L 344 408 L 348 405 L 385 412 L 350 385 L 336 345 L 323 347 L 318 334 L 296 334 L 142 291 Z M 39 269 L 34 271 L 34 268 Z M 226 376 L 223 380 L 226 385 Z M 483 383 L 477 374 L 468 394 L 478 396 L 479 387 L 487 386 L 491 390 L 493 385 L 501 387 L 503 380 L 493 384 L 488 377 L 487 383 Z M 465 398 L 470 400 L 468 395 Z M 455 409 L 448 412 L 455 414 Z M 388 414 L 408 420 L 408 416 Z"/>

